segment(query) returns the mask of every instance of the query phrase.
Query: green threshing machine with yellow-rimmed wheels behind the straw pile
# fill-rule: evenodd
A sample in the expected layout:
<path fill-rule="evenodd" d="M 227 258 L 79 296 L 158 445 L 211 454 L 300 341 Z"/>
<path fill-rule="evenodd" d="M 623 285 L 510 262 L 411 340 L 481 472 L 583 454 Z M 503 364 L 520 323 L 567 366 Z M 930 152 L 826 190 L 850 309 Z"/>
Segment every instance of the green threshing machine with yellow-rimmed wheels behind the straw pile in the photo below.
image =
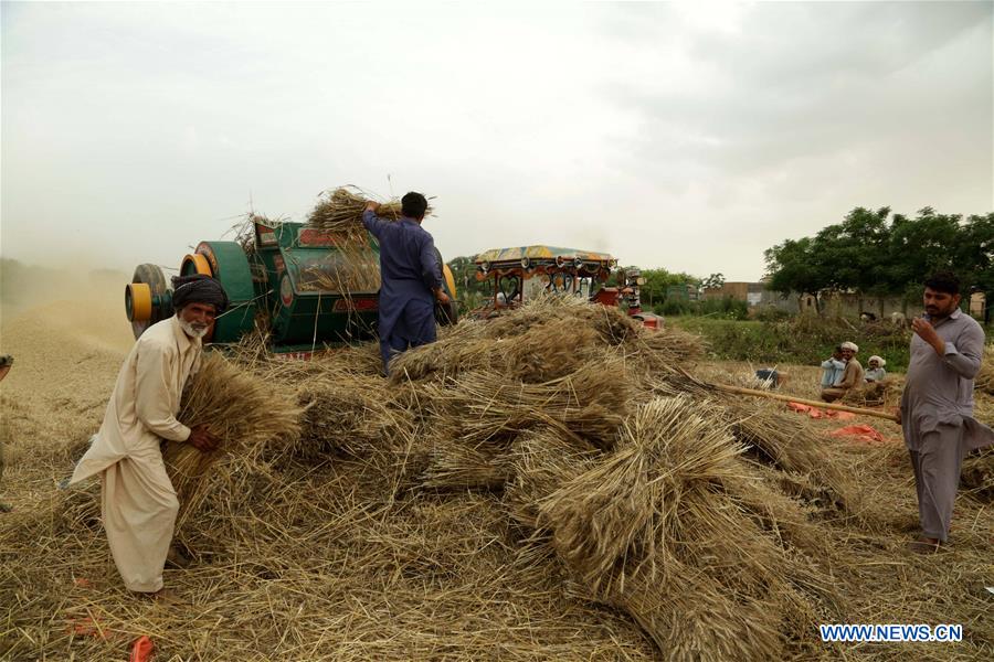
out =
<path fill-rule="evenodd" d="M 455 282 L 441 255 L 438 261 L 452 305 L 436 310 L 436 317 L 455 323 Z M 183 257 L 179 273 L 213 276 L 231 299 L 205 342 L 235 343 L 256 324 L 268 332 L 271 349 L 284 354 L 309 355 L 376 338 L 380 247 L 366 231 L 255 220 L 242 241 L 201 242 Z M 159 266 L 135 269 L 125 288 L 125 310 L 136 339 L 173 314 L 172 290 Z"/>

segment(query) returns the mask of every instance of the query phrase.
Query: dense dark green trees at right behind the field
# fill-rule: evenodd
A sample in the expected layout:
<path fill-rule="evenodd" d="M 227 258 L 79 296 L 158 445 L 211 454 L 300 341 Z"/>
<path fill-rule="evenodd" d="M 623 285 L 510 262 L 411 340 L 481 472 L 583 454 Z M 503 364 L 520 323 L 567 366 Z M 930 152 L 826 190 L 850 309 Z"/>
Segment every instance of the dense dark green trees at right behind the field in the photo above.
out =
<path fill-rule="evenodd" d="M 927 276 L 949 270 L 960 277 L 964 305 L 974 291 L 994 303 L 994 213 L 964 217 L 924 207 L 911 217 L 856 207 L 842 223 L 786 239 L 764 256 L 768 287 L 783 296 L 819 301 L 826 292 L 854 292 L 908 303 L 920 301 Z"/>

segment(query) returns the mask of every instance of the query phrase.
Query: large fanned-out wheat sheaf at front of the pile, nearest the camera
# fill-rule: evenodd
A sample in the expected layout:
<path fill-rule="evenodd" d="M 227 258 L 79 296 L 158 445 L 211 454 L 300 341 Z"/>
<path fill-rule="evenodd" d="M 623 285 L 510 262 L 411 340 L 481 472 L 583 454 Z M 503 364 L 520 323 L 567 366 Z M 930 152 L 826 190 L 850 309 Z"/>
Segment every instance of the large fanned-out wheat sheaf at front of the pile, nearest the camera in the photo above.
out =
<path fill-rule="evenodd" d="M 761 525 L 775 526 L 773 503 L 799 525 L 803 513 L 754 484 L 737 493 L 751 482 L 743 450 L 690 398 L 656 398 L 614 453 L 540 502 L 567 566 L 673 659 L 782 658 L 817 622 L 813 598 L 834 601 L 831 578 Z"/>

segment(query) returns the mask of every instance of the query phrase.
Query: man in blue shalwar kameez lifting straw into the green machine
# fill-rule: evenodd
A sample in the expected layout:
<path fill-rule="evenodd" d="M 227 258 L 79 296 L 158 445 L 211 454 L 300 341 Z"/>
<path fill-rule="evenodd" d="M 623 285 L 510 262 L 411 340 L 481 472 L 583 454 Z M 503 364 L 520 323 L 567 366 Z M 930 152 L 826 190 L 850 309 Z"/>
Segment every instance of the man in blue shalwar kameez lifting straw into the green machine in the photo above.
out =
<path fill-rule="evenodd" d="M 442 289 L 435 242 L 421 227 L 427 211 L 424 195 L 404 195 L 399 221 L 377 216 L 379 207 L 370 202 L 362 224 L 380 243 L 380 353 L 389 374 L 393 356 L 435 341 L 435 301 L 448 303 L 448 296 Z"/>

